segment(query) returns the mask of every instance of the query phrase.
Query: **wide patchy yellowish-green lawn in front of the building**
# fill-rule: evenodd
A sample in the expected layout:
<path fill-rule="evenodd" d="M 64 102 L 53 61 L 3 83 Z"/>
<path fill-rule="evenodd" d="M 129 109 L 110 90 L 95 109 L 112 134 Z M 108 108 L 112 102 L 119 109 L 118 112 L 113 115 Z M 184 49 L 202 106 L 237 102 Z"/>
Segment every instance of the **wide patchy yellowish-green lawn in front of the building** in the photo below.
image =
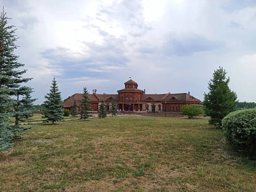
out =
<path fill-rule="evenodd" d="M 0 191 L 256 191 L 256 162 L 207 119 L 117 116 L 21 135 L 0 154 Z"/>

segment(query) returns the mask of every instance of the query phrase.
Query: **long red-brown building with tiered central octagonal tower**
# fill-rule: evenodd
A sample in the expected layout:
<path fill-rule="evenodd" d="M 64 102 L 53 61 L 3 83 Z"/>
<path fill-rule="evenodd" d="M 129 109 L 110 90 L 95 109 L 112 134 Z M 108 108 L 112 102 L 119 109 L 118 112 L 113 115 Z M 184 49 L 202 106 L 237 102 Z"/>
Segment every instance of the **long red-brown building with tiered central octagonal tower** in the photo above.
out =
<path fill-rule="evenodd" d="M 100 101 L 105 100 L 108 109 L 113 98 L 116 100 L 118 109 L 122 111 L 147 111 L 147 112 L 180 112 L 183 105 L 195 104 L 200 106 L 200 100 L 189 93 L 166 93 L 166 94 L 145 94 L 145 90 L 138 89 L 138 84 L 129 80 L 125 82 L 124 89 L 118 90 L 118 94 L 88 94 L 93 111 L 98 111 Z M 64 109 L 72 111 L 74 99 L 78 108 L 81 106 L 83 94 L 75 93 L 64 100 Z"/>

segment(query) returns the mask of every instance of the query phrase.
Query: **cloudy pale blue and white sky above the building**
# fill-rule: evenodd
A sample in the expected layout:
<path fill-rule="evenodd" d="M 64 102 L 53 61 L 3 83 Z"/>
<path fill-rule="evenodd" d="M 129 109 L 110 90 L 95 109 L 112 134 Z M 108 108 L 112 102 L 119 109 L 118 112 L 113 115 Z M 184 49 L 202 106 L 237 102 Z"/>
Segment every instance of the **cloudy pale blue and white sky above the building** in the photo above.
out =
<path fill-rule="evenodd" d="M 256 102 L 256 0 L 0 0 L 17 27 L 35 104 L 55 76 L 62 99 L 117 94 L 129 77 L 146 93 L 204 100 L 224 67 L 240 102 Z"/>

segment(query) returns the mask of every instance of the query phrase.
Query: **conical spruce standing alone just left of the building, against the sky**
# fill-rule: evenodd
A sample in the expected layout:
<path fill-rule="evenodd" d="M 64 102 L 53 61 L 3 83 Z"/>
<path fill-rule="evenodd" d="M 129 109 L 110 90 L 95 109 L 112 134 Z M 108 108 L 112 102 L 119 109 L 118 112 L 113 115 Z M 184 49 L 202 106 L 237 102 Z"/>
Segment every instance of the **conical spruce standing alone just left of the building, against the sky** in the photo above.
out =
<path fill-rule="evenodd" d="M 44 102 L 45 112 L 43 113 L 44 122 L 52 122 L 52 125 L 56 121 L 61 121 L 64 118 L 63 105 L 61 101 L 61 92 L 59 92 L 55 77 L 52 81 L 52 86 L 50 86 L 50 93 L 44 96 L 47 99 Z"/>

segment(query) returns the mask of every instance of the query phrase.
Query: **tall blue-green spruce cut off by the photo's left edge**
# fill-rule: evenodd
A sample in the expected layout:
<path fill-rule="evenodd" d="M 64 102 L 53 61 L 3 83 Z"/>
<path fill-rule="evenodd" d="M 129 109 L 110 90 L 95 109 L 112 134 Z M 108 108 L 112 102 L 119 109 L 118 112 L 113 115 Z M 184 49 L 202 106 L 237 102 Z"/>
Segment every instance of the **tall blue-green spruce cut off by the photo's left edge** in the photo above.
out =
<path fill-rule="evenodd" d="M 18 111 L 20 101 L 18 96 L 24 96 L 27 93 L 28 87 L 20 87 L 32 78 L 23 78 L 22 75 L 26 70 L 19 70 L 24 67 L 24 64 L 17 60 L 19 56 L 14 54 L 14 50 L 18 46 L 15 45 L 17 35 L 15 35 L 15 26 L 8 26 L 6 13 L 1 12 L 0 16 L 0 151 L 10 150 L 15 138 L 16 131 L 24 131 L 32 127 L 18 126 L 18 118 L 26 111 Z M 17 100 L 11 99 L 17 97 Z M 10 112 L 12 108 L 16 108 L 15 112 Z M 6 123 L 9 116 L 15 116 L 17 121 L 15 127 Z M 17 137 L 16 137 L 17 139 Z"/>

